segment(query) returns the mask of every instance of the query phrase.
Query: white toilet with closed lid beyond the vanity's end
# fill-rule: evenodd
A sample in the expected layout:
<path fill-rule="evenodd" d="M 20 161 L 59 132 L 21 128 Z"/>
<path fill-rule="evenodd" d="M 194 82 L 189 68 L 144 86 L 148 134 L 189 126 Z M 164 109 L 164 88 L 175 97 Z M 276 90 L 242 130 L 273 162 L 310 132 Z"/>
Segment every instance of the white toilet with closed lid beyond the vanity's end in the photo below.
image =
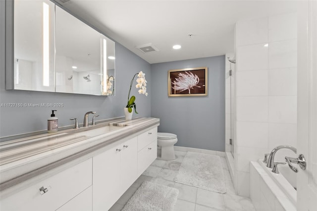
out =
<path fill-rule="evenodd" d="M 161 159 L 175 159 L 174 144 L 177 142 L 177 135 L 172 133 L 158 133 L 158 146 L 161 148 Z"/>

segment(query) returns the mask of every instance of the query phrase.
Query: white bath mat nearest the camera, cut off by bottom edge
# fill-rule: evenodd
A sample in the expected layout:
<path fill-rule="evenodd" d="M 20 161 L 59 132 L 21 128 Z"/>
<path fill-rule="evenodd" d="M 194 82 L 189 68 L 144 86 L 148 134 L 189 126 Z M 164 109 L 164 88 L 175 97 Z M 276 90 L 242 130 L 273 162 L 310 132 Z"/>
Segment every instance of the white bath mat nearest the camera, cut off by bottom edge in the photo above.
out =
<path fill-rule="evenodd" d="M 178 192 L 176 188 L 144 181 L 121 211 L 172 211 Z"/>

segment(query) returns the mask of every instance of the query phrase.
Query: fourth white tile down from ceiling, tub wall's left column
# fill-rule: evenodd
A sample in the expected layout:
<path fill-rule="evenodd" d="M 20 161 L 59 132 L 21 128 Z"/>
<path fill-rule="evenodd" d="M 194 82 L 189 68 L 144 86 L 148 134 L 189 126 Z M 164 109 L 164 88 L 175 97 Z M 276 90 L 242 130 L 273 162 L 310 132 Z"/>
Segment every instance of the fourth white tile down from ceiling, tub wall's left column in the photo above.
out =
<path fill-rule="evenodd" d="M 267 97 L 237 97 L 237 121 L 267 122 Z"/>

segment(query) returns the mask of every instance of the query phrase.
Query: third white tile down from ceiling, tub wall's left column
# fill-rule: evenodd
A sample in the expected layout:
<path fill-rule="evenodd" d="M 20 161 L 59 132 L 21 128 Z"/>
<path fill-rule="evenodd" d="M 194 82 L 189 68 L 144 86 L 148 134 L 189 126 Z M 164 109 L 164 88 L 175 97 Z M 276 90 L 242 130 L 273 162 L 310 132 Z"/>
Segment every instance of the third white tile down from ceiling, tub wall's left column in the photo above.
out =
<path fill-rule="evenodd" d="M 237 72 L 237 96 L 267 96 L 268 70 Z"/>

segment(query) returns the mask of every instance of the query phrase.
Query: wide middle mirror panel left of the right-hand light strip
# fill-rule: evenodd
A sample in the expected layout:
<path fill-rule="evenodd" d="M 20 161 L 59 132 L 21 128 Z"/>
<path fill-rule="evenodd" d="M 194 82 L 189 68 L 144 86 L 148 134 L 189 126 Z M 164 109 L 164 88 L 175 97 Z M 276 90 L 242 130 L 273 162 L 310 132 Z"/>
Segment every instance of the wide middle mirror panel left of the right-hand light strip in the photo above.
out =
<path fill-rule="evenodd" d="M 101 95 L 101 34 L 56 6 L 55 38 L 56 92 Z"/>

